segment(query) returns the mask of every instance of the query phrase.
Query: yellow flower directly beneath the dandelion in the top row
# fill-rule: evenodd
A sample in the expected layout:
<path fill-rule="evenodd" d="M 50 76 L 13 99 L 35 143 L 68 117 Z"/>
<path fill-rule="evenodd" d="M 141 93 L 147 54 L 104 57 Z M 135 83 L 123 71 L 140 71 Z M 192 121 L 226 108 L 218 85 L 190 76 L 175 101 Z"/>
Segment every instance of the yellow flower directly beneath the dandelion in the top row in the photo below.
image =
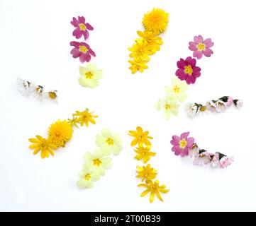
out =
<path fill-rule="evenodd" d="M 151 47 L 152 52 L 155 54 L 155 52 L 160 50 L 160 45 L 163 44 L 162 38 L 158 37 L 158 32 L 152 32 L 145 30 L 144 32 L 138 30 L 137 34 L 140 36 L 138 40 L 146 40 L 148 42 L 148 46 Z"/>

